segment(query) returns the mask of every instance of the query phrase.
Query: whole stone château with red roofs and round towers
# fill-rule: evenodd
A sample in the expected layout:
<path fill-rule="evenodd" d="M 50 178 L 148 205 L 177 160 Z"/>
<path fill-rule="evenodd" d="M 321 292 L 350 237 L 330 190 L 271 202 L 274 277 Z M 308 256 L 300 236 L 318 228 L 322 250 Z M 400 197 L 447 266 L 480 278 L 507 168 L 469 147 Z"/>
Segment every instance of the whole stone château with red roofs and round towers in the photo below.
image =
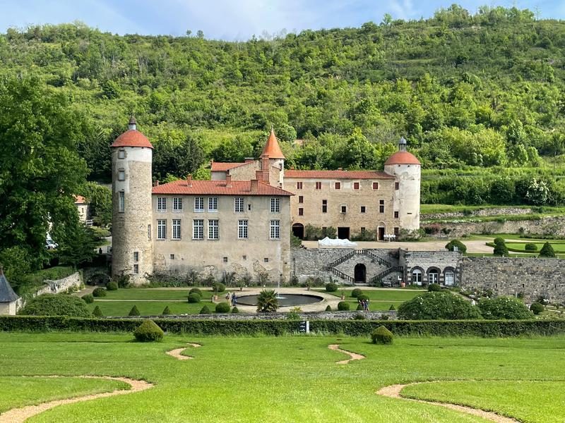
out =
<path fill-rule="evenodd" d="M 136 129 L 112 144 L 112 276 L 155 272 L 288 280 L 290 233 L 308 225 L 340 238 L 420 227 L 420 162 L 399 151 L 384 171 L 285 171 L 271 130 L 258 160 L 211 165 L 211 180 L 152 186 L 153 145 Z"/>

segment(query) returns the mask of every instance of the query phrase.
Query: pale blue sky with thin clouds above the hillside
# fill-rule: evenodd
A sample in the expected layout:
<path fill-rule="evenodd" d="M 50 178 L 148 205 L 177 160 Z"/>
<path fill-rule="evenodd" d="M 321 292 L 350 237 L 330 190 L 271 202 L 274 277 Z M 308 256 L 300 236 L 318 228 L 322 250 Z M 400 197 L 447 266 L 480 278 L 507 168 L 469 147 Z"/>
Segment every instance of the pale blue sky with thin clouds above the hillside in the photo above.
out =
<path fill-rule="evenodd" d="M 79 20 L 117 34 L 185 35 L 246 40 L 333 27 L 420 19 L 453 3 L 474 13 L 479 6 L 529 8 L 540 18 L 565 19 L 564 0 L 0 0 L 0 32 L 9 27 Z"/>

